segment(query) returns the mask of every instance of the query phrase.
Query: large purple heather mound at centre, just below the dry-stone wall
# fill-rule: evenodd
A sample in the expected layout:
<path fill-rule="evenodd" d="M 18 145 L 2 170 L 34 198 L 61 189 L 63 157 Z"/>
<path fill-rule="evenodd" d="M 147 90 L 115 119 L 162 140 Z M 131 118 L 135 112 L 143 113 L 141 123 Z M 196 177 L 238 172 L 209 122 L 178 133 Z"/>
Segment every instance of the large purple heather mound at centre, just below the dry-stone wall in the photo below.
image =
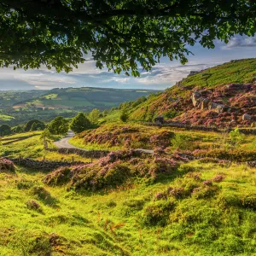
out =
<path fill-rule="evenodd" d="M 156 180 L 177 170 L 179 163 L 172 157 L 147 154 L 135 150 L 116 151 L 94 163 L 82 166 L 61 167 L 44 177 L 44 183 L 68 183 L 71 189 L 99 190 L 117 188 L 133 178 Z"/>

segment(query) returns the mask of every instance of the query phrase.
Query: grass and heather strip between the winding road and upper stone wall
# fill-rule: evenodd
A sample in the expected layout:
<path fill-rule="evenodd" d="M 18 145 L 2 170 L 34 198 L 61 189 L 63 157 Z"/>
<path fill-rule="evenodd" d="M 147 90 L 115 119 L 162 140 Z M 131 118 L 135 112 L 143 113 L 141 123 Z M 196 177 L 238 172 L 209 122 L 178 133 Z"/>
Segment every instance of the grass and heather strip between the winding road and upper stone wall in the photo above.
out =
<path fill-rule="evenodd" d="M 123 127 L 129 128 L 134 131 L 123 131 Z M 183 137 L 183 149 L 207 149 L 211 150 L 214 148 L 224 148 L 230 143 L 230 137 L 227 134 L 221 134 L 217 132 L 209 131 L 184 131 L 183 129 L 176 129 L 172 127 L 154 127 L 147 125 L 137 125 L 137 124 L 107 124 L 102 125 L 96 130 L 84 131 L 83 133 L 73 137 L 69 140 L 74 146 L 84 149 L 125 149 L 125 141 L 127 138 L 131 137 L 131 143 L 128 145 L 129 148 L 145 148 L 154 149 L 158 148 L 160 145 L 167 147 L 167 151 L 171 151 L 175 148 L 172 147 L 171 139 L 158 137 L 160 145 L 155 145 L 150 141 L 150 137 L 154 137 L 166 131 L 172 131 L 175 135 Z M 112 137 L 108 134 L 116 134 L 115 137 L 118 138 L 117 143 L 111 144 Z M 87 140 L 88 136 L 96 137 L 94 142 L 89 142 Z M 97 136 L 108 137 L 108 142 L 105 143 L 104 139 L 97 139 Z M 168 145 L 169 143 L 169 145 Z M 242 144 L 239 146 L 245 150 L 256 148 L 255 136 L 245 136 Z M 169 147 L 169 148 L 168 148 Z"/>

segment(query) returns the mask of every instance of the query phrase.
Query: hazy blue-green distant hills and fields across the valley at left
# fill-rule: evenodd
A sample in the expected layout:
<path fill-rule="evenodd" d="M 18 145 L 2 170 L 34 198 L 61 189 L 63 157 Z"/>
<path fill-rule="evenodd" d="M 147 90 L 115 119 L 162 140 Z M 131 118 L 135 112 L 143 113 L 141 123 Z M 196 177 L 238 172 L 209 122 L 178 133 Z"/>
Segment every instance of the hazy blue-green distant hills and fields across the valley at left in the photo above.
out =
<path fill-rule="evenodd" d="M 118 107 L 120 103 L 158 92 L 109 88 L 66 88 L 53 90 L 0 91 L 0 125 L 24 124 L 29 119 L 49 121 L 61 115 Z"/>

